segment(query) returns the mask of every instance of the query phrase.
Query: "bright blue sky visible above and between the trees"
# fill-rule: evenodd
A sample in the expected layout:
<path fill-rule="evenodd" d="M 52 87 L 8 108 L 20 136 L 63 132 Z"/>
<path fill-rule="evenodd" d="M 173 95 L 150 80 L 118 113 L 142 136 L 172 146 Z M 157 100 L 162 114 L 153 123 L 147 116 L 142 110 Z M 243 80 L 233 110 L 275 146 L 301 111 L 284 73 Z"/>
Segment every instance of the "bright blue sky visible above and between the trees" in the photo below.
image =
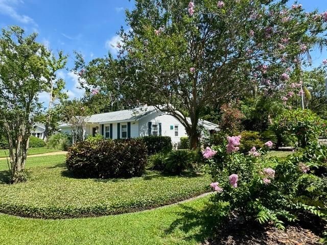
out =
<path fill-rule="evenodd" d="M 290 1 L 290 5 L 293 1 Z M 327 10 L 327 0 L 299 0 L 306 11 Z M 53 51 L 63 50 L 69 55 L 67 68 L 74 65 L 73 51 L 81 52 L 86 60 L 103 57 L 119 38 L 116 32 L 125 27 L 125 9 L 133 8 L 128 0 L 0 0 L 0 28 L 18 25 L 27 33 L 39 33 L 39 41 Z M 327 52 L 312 54 L 313 65 L 317 66 L 327 58 Z M 81 97 L 83 91 L 77 88 L 77 77 L 69 70 L 58 74 L 66 81 L 68 95 Z M 44 102 L 48 95 L 40 95 Z"/>

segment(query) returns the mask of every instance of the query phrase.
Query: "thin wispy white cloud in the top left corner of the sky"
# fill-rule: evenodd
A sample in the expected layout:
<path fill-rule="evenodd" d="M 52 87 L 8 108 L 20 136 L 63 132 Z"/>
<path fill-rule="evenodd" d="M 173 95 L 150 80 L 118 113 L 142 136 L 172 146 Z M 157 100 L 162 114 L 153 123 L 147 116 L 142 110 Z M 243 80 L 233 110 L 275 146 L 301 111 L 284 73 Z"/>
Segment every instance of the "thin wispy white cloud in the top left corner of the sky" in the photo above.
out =
<path fill-rule="evenodd" d="M 0 13 L 8 15 L 21 23 L 34 24 L 35 26 L 37 26 L 37 24 L 31 17 L 19 14 L 16 11 L 16 7 L 19 4 L 24 4 L 24 2 L 18 0 L 0 0 Z"/>

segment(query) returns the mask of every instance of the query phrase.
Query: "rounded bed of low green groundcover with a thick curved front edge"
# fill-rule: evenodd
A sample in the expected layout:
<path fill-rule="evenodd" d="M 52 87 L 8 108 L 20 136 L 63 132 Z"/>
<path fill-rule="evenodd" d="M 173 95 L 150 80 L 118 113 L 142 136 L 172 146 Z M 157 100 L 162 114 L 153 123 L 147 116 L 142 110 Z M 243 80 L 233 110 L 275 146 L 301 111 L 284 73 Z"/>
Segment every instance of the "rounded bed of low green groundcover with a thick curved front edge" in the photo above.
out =
<path fill-rule="evenodd" d="M 63 218 L 118 214 L 181 201 L 208 191 L 207 175 L 166 176 L 147 171 L 131 179 L 76 179 L 64 155 L 28 158 L 28 182 L 0 184 L 0 212 Z M 0 181 L 7 163 L 0 161 Z"/>

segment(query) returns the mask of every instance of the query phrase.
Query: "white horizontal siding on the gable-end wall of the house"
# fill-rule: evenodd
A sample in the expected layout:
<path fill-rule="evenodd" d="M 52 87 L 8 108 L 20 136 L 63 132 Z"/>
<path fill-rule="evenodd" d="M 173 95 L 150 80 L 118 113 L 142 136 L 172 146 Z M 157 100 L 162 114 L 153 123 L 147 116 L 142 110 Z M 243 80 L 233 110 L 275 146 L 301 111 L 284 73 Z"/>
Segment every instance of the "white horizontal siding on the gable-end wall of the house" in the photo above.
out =
<path fill-rule="evenodd" d="M 153 112 L 138 121 L 139 136 L 148 136 L 149 122 L 159 124 L 161 122 L 161 135 L 169 136 L 173 144 L 180 143 L 180 137 L 187 136 L 184 126 L 174 116 L 162 112 Z M 170 129 L 173 126 L 173 130 Z M 178 136 L 175 136 L 175 126 L 178 126 Z"/>

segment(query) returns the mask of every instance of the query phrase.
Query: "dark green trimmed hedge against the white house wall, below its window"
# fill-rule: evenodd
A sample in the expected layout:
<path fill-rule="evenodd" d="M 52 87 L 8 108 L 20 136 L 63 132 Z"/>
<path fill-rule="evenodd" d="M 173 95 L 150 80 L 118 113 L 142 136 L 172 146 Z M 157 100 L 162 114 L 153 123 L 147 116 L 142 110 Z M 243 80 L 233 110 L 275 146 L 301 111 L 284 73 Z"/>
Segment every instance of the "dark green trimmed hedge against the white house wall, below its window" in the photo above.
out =
<path fill-rule="evenodd" d="M 172 139 L 169 136 L 144 136 L 141 139 L 147 145 L 149 155 L 159 152 L 168 153 L 173 149 Z"/>

